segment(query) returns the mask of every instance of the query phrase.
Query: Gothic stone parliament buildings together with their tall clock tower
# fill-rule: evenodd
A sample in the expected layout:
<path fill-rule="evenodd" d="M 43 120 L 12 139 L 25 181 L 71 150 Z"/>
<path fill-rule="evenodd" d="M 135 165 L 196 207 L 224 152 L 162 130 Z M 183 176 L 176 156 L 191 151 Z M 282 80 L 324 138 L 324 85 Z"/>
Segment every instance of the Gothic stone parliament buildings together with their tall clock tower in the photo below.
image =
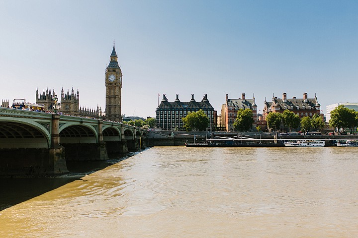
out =
<path fill-rule="evenodd" d="M 115 51 L 114 42 L 110 61 L 105 71 L 105 87 L 106 107 L 103 114 L 101 108 L 98 106 L 96 109 L 80 107 L 79 90 L 75 93 L 73 88 L 71 93 L 69 90 L 64 93 L 62 88 L 61 98 L 58 99 L 58 102 L 55 101 L 57 95 L 54 90 L 51 92 L 51 89 L 46 89 L 46 92 L 43 90 L 43 92 L 39 94 L 38 89 L 36 89 L 36 104 L 43 104 L 46 111 L 53 111 L 57 104 L 58 111 L 64 115 L 122 121 L 122 70 L 118 65 L 118 57 Z"/>

